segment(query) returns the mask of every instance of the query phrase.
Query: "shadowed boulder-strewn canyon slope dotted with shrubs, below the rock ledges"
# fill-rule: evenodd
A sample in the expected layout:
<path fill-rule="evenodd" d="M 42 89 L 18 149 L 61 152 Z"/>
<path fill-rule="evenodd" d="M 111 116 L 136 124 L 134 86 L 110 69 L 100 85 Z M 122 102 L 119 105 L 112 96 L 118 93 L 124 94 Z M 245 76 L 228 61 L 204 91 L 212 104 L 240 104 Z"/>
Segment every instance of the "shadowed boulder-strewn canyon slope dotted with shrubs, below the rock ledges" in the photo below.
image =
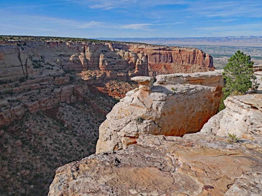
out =
<path fill-rule="evenodd" d="M 0 139 L 0 195 L 46 195 L 59 166 L 95 152 L 98 128 L 105 119 L 99 111 L 110 110 L 114 105 L 110 100 L 91 94 L 87 102 L 27 113 L 5 127 Z"/>

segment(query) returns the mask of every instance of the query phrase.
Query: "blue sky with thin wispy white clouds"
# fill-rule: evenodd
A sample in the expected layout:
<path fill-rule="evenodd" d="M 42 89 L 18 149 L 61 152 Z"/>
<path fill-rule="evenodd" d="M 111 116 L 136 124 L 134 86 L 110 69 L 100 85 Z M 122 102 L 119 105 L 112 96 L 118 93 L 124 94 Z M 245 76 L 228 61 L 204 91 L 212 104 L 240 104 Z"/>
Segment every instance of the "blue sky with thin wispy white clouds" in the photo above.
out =
<path fill-rule="evenodd" d="M 0 0 L 0 35 L 262 36 L 262 0 Z"/>

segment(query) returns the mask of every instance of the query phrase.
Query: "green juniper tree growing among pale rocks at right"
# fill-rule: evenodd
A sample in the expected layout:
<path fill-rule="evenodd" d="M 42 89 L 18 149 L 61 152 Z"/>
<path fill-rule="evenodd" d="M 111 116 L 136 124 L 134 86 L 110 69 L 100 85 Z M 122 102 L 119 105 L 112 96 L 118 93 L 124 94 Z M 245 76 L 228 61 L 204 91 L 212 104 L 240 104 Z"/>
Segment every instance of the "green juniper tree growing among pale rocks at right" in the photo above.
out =
<path fill-rule="evenodd" d="M 243 95 L 248 90 L 256 90 L 258 84 L 253 71 L 253 61 L 250 56 L 238 50 L 232 57 L 228 59 L 228 63 L 224 67 L 223 77 L 226 79 L 226 86 L 222 89 L 224 97 L 221 100 L 218 111 L 225 109 L 224 100 L 232 95 Z"/>

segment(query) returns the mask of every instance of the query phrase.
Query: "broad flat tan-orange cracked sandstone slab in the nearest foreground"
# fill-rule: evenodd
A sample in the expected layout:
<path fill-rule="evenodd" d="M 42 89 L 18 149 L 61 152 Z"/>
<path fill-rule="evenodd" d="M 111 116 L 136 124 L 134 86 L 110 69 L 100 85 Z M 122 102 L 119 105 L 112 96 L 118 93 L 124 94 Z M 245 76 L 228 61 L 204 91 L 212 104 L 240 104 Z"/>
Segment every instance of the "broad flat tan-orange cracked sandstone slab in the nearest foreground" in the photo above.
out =
<path fill-rule="evenodd" d="M 230 144 L 193 133 L 143 135 L 125 150 L 102 152 L 56 171 L 48 196 L 261 195 L 261 135 Z"/>

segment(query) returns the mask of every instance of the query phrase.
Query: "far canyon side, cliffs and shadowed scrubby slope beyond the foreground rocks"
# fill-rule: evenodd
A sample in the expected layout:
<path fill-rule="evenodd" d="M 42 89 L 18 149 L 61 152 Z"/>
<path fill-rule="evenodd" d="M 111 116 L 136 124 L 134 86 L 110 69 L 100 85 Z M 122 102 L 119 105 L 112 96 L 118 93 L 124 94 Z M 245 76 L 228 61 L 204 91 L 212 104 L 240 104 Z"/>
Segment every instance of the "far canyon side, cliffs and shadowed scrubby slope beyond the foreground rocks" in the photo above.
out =
<path fill-rule="evenodd" d="M 23 39 L 0 40 L 1 196 L 46 195 L 60 166 L 94 154 L 105 115 L 138 87 L 131 78 L 156 80 L 150 65 L 214 69 L 198 49 Z"/>

